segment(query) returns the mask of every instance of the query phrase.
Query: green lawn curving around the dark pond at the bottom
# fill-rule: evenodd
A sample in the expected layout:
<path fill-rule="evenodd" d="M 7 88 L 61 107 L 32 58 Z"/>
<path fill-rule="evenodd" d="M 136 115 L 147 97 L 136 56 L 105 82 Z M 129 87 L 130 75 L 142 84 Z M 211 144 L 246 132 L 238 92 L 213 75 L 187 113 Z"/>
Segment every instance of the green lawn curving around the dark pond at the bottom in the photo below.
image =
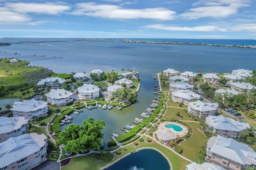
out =
<path fill-rule="evenodd" d="M 186 168 L 185 166 L 190 163 L 190 162 L 180 158 L 179 156 L 174 154 L 172 151 L 166 149 L 164 146 L 157 144 L 156 142 L 146 143 L 145 140 L 147 139 L 147 137 L 143 136 L 142 138 L 144 138 L 144 142 L 138 142 L 139 145 L 136 147 L 134 147 L 132 144 L 130 144 L 128 146 L 120 148 L 120 151 L 122 154 L 120 156 L 116 156 L 114 158 L 114 160 L 117 160 L 121 156 L 124 156 L 125 154 L 132 152 L 132 150 L 138 149 L 140 147 L 152 147 L 152 148 L 156 148 L 156 149 L 160 150 L 169 158 L 169 160 L 172 162 L 172 168 L 174 170 L 185 169 Z M 124 151 L 124 148 L 126 148 L 127 150 Z M 70 169 L 74 169 L 74 167 L 76 167 L 76 169 L 79 169 L 79 170 L 87 170 L 87 169 L 98 170 L 99 168 L 101 168 L 111 162 L 114 162 L 114 160 L 112 160 L 111 162 L 104 163 L 101 160 L 96 160 L 95 159 L 96 156 L 97 156 L 97 154 L 93 153 L 93 154 L 89 154 L 86 156 L 79 156 L 79 157 L 71 158 L 70 163 L 66 166 L 62 166 L 61 169 L 62 170 L 70 170 Z"/>

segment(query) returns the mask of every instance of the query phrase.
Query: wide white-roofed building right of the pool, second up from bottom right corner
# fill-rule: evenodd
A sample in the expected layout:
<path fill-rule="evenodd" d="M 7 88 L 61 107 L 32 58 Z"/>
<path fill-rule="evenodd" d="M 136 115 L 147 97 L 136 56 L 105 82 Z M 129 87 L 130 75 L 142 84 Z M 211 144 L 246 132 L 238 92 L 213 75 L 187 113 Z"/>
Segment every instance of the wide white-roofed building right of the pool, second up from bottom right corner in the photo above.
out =
<path fill-rule="evenodd" d="M 206 125 L 213 129 L 212 133 L 216 133 L 223 137 L 240 138 L 240 132 L 250 128 L 248 123 L 238 122 L 229 117 L 208 116 L 206 117 Z"/>

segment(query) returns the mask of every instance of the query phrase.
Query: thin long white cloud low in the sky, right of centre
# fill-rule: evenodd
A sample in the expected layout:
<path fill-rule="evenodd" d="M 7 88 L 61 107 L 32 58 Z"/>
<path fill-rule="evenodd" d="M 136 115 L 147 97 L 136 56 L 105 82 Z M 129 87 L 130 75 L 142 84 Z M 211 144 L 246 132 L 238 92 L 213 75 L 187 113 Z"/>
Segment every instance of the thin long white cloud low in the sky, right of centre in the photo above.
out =
<path fill-rule="evenodd" d="M 180 27 L 180 26 L 166 26 L 162 24 L 153 24 L 153 25 L 144 26 L 142 28 L 167 30 L 167 31 L 199 31 L 199 32 L 224 31 L 224 29 L 220 29 L 217 26 Z"/>

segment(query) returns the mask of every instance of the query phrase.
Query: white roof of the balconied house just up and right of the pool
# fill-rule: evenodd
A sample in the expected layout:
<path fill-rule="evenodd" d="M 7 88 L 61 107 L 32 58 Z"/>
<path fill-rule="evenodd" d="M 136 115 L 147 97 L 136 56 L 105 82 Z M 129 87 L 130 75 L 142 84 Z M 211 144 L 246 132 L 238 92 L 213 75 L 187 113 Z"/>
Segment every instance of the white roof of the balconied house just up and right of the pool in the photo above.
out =
<path fill-rule="evenodd" d="M 188 107 L 196 110 L 196 111 L 214 111 L 216 110 L 214 107 L 216 107 L 216 103 L 204 103 L 202 101 L 195 101 L 195 102 L 189 102 Z"/>

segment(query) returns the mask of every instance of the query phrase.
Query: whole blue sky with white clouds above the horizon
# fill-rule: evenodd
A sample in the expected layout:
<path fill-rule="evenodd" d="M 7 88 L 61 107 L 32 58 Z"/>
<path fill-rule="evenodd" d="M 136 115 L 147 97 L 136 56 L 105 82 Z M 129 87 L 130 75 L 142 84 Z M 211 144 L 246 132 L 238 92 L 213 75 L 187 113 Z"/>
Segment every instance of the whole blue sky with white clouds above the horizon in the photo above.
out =
<path fill-rule="evenodd" d="M 0 0 L 0 37 L 256 39 L 255 0 Z"/>

